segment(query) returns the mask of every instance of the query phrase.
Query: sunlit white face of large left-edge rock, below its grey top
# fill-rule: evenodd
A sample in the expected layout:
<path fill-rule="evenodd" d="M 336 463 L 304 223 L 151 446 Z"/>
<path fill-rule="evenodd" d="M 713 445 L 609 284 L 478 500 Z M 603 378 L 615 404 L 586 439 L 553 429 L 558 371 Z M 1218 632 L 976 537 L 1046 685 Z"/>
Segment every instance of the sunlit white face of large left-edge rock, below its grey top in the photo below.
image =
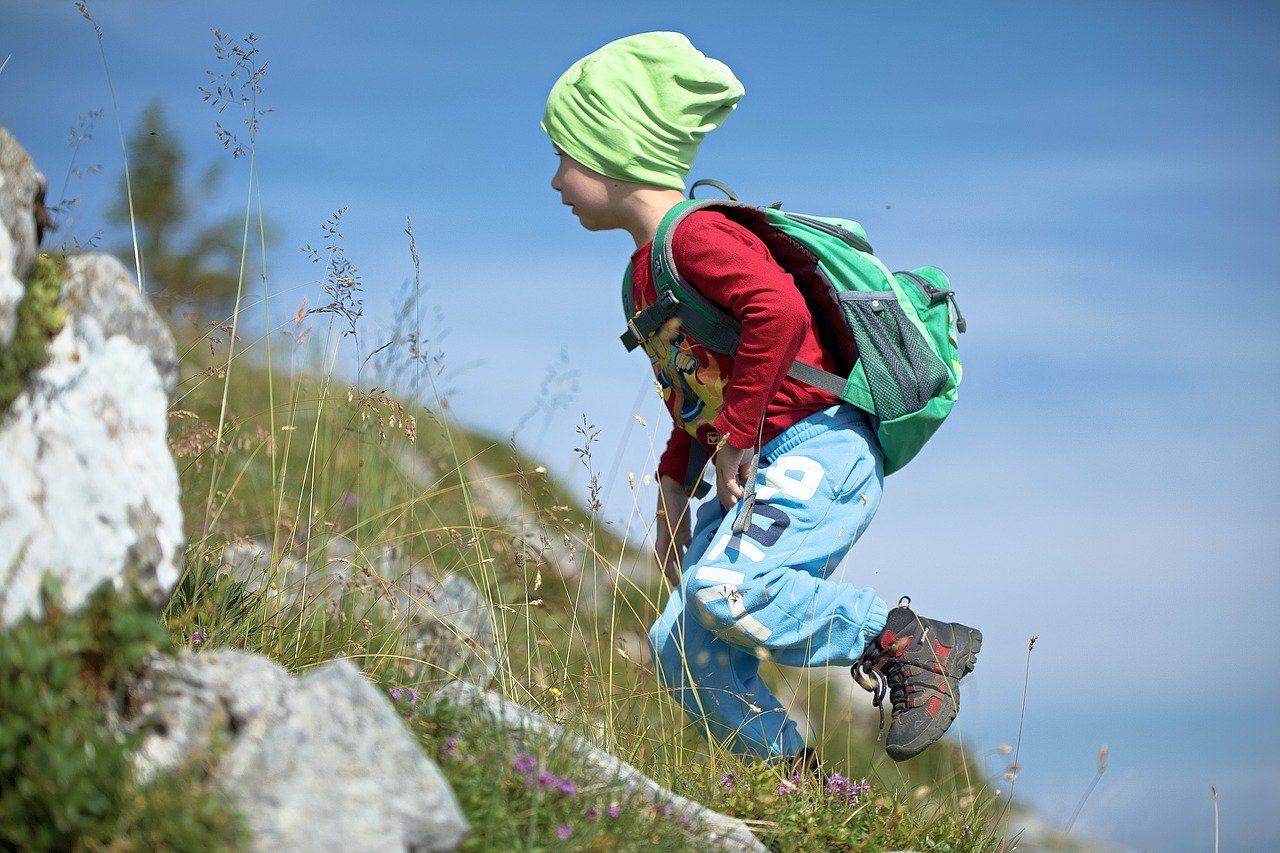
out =
<path fill-rule="evenodd" d="M 45 573 L 74 608 L 127 574 L 159 605 L 180 569 L 178 470 L 165 438 L 172 386 L 146 348 L 92 316 L 70 315 L 50 352 L 0 420 L 5 625 L 41 612 Z"/>

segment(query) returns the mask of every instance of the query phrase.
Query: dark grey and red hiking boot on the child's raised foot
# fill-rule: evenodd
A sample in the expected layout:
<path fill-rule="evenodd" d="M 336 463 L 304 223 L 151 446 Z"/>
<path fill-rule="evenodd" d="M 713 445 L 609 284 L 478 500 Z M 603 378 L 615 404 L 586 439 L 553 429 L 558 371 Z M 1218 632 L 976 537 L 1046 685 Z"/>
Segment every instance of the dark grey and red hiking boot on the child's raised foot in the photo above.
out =
<path fill-rule="evenodd" d="M 873 694 L 884 725 L 884 693 L 893 706 L 884 752 L 905 761 L 942 736 L 960 710 L 960 679 L 973 671 L 982 631 L 957 622 L 920 619 L 905 596 L 888 612 L 884 630 L 851 669 Z"/>

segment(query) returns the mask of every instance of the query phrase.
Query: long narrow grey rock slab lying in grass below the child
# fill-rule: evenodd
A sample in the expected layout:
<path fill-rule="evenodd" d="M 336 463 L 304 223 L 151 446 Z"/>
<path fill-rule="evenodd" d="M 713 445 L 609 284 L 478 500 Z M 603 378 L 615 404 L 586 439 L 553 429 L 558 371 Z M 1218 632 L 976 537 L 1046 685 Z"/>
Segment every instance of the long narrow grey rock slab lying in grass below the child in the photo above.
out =
<path fill-rule="evenodd" d="M 571 749 L 589 784 L 614 788 L 635 800 L 666 806 L 677 818 L 689 821 L 689 833 L 709 850 L 763 852 L 768 848 L 736 817 L 714 812 L 701 803 L 667 790 L 639 770 L 591 744 L 585 738 L 502 695 L 454 681 L 431 695 L 434 702 L 465 708 L 500 726 L 518 751 L 538 752 L 539 745 L 558 744 Z"/>

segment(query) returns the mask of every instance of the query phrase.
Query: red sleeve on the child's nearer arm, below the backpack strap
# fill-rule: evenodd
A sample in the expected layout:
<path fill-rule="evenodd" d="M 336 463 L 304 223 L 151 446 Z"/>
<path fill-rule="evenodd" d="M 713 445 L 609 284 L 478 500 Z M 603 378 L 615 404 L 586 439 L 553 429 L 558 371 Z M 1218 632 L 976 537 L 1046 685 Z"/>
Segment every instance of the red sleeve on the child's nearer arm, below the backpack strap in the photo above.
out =
<path fill-rule="evenodd" d="M 687 216 L 672 251 L 689 283 L 742 324 L 716 429 L 733 447 L 754 447 L 765 407 L 808 330 L 804 296 L 764 243 L 722 214 Z"/>

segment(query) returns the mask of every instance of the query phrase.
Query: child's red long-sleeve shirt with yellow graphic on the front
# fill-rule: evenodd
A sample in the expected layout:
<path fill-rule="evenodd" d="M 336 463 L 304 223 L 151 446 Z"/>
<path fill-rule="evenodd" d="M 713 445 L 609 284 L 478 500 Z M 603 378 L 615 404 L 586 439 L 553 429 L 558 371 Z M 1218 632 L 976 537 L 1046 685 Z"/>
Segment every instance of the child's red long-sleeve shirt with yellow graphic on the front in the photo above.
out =
<path fill-rule="evenodd" d="M 637 309 L 657 300 L 652 250 L 653 243 L 646 243 L 631 257 Z M 835 371 L 835 357 L 818 342 L 809 307 L 791 277 L 755 234 L 722 213 L 699 210 L 676 225 L 672 252 L 681 277 L 742 324 L 736 356 L 714 353 L 687 336 L 671 352 L 655 356 L 650 351 L 675 423 L 658 473 L 686 482 L 695 437 L 707 456 L 721 437 L 733 447 L 750 448 L 762 418 L 768 442 L 840 401 L 786 375 L 796 359 Z M 709 387 L 710 393 L 700 391 L 699 400 L 691 400 L 689 393 L 675 392 L 669 380 L 675 373 Z"/>

